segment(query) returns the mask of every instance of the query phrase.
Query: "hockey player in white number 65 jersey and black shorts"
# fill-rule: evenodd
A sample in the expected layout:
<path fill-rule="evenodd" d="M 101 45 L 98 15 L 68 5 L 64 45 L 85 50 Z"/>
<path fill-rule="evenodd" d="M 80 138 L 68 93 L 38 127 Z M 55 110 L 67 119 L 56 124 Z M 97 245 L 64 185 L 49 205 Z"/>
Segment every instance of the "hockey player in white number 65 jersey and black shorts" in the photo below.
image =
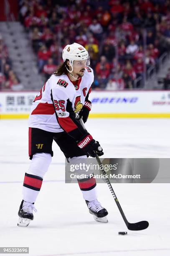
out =
<path fill-rule="evenodd" d="M 33 220 L 34 202 L 53 156 L 53 140 L 70 163 L 79 158 L 95 157 L 94 151 L 103 155 L 99 142 L 78 120 L 83 118 L 85 123 L 91 110 L 88 97 L 94 74 L 89 67 L 89 54 L 83 46 L 74 43 L 63 49 L 62 57 L 63 64 L 44 84 L 31 107 L 28 121 L 31 164 L 23 182 L 18 226 L 28 226 Z M 97 200 L 94 177 L 78 182 L 94 219 L 107 222 L 108 212 Z"/>

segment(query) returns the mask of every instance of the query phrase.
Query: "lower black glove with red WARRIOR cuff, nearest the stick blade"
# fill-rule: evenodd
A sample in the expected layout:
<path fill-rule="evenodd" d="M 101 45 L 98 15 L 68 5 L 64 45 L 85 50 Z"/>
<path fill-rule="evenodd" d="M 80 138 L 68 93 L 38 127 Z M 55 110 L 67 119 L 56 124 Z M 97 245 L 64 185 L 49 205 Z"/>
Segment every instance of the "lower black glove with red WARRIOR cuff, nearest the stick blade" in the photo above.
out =
<path fill-rule="evenodd" d="M 94 151 L 98 156 L 102 156 L 103 149 L 101 148 L 98 141 L 95 141 L 89 133 L 86 133 L 79 141 L 77 141 L 79 148 L 82 148 L 87 155 L 95 157 Z"/>

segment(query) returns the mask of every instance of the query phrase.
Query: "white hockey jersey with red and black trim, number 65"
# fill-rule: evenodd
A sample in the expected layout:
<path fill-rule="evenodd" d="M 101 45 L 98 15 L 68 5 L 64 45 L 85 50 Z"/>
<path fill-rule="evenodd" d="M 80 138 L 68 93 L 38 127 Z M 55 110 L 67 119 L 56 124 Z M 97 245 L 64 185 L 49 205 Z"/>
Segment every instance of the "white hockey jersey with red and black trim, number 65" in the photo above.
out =
<path fill-rule="evenodd" d="M 40 95 L 33 101 L 28 120 L 29 127 L 54 133 L 72 133 L 79 129 L 79 122 L 75 117 L 83 107 L 93 81 L 94 74 L 90 67 L 86 67 L 84 76 L 76 85 L 66 74 L 53 74 L 40 90 Z"/>

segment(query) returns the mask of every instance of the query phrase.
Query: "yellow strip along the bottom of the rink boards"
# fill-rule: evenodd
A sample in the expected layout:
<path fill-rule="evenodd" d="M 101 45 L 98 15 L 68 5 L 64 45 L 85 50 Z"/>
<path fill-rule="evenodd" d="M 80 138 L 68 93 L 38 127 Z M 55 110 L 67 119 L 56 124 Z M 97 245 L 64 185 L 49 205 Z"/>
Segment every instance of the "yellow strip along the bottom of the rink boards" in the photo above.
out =
<path fill-rule="evenodd" d="M 27 119 L 29 114 L 0 114 L 0 119 Z M 91 113 L 89 118 L 170 118 L 170 113 Z"/>

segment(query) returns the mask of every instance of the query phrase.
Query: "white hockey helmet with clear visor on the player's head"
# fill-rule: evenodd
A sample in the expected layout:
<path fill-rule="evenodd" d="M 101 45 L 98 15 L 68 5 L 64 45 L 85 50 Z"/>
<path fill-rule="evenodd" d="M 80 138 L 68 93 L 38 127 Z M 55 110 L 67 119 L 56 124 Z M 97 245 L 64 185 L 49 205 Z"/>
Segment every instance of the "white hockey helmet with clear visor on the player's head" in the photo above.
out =
<path fill-rule="evenodd" d="M 69 59 L 70 65 L 73 66 L 73 61 L 87 60 L 86 66 L 90 64 L 90 58 L 88 51 L 81 45 L 77 43 L 68 44 L 63 49 L 63 61 Z"/>

